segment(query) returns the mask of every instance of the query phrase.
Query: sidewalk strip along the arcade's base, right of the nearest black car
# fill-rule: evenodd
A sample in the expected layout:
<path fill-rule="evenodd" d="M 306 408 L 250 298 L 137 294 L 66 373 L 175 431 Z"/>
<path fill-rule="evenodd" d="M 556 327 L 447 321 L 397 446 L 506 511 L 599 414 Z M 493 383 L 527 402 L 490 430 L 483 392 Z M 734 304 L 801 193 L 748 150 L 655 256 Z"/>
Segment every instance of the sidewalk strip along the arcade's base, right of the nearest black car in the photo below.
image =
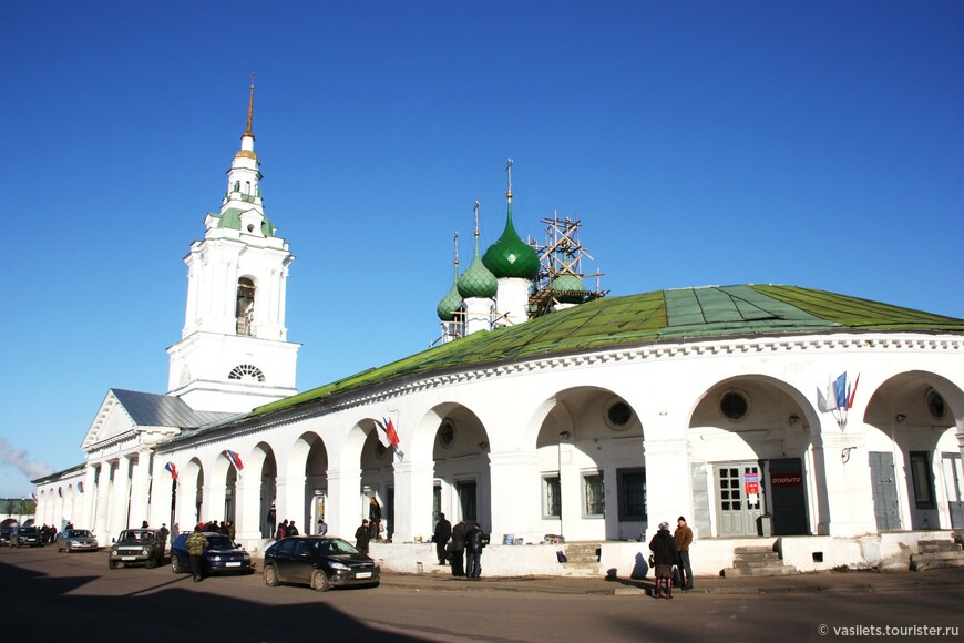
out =
<path fill-rule="evenodd" d="M 584 579 L 560 576 L 526 576 L 517 579 L 455 579 L 449 574 L 381 574 L 383 586 L 433 592 L 536 592 L 542 594 L 629 594 L 652 593 L 653 579 Z M 964 569 L 940 569 L 924 572 L 848 571 L 813 572 L 786 576 L 697 578 L 690 592 L 674 594 L 780 594 L 780 593 L 875 593 L 893 591 L 964 589 Z"/>

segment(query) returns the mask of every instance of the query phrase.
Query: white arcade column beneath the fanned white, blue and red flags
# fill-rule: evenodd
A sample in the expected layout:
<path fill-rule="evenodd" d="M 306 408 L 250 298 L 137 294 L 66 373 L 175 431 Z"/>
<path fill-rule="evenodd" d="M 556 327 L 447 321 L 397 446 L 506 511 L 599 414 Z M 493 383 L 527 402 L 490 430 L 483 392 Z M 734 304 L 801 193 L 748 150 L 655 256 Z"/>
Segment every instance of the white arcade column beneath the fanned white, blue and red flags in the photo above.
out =
<path fill-rule="evenodd" d="M 817 532 L 838 537 L 876 533 L 862 427 L 854 422 L 842 432 L 833 422 L 824 425 L 813 439 L 813 463 L 818 496 L 823 500 Z"/>

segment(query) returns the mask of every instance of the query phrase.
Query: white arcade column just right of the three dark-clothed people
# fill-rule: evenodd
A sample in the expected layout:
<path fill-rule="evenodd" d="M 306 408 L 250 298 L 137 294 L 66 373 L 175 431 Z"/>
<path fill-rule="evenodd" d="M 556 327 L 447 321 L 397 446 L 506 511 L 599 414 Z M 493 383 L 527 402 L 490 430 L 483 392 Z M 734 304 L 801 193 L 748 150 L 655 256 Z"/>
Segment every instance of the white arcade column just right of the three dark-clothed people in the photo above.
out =
<path fill-rule="evenodd" d="M 489 472 L 492 542 L 502 542 L 501 537 L 506 533 L 524 535 L 525 542 L 540 542 L 542 480 L 535 452 L 490 453 Z M 505 502 L 506 498 L 512 501 Z"/>

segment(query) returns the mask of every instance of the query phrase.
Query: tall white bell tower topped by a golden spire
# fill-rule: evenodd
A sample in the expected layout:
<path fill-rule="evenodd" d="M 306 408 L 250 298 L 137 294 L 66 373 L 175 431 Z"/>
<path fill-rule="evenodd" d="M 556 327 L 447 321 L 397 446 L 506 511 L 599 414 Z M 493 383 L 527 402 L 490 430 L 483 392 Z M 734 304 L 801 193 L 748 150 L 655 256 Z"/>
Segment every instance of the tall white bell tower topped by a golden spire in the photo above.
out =
<path fill-rule="evenodd" d="M 300 344 L 287 341 L 285 293 L 295 256 L 265 216 L 252 116 L 227 172 L 219 214 L 204 221 L 187 264 L 187 314 L 167 349 L 168 395 L 196 410 L 245 412 L 295 395 Z"/>

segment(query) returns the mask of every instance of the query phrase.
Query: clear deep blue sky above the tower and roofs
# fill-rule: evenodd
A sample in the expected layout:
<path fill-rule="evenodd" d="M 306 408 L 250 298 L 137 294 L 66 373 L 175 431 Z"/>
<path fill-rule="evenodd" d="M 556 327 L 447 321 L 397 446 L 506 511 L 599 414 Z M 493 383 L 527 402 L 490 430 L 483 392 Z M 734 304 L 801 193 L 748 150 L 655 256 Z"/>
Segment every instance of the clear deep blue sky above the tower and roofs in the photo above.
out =
<path fill-rule="evenodd" d="M 626 295 L 822 288 L 964 317 L 961 2 L 17 2 L 0 39 L 0 497 L 165 392 L 182 258 L 257 72 L 300 390 L 423 348 L 505 217 Z M 468 265 L 463 263 L 463 266 Z M 591 286 L 593 284 L 589 284 Z"/>

